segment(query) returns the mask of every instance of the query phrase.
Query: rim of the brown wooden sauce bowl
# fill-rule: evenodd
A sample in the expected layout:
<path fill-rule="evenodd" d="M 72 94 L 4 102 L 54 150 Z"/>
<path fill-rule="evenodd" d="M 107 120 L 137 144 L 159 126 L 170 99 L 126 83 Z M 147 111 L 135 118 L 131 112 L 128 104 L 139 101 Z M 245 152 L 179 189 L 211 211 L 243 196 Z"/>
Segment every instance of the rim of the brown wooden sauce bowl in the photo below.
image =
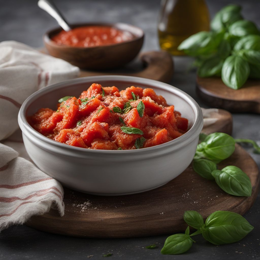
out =
<path fill-rule="evenodd" d="M 50 38 L 50 34 L 54 33 L 55 31 L 58 31 L 58 30 L 62 30 L 61 27 L 56 27 L 54 29 L 50 29 L 48 30 L 44 35 L 43 35 L 43 41 L 46 43 L 46 44 L 49 44 L 50 46 L 52 47 L 56 47 L 56 48 L 61 48 L 61 49 L 65 49 L 65 48 L 71 48 L 71 49 L 75 49 L 75 50 L 93 50 L 93 49 L 97 49 L 97 48 L 101 48 L 101 47 L 110 47 L 110 46 L 118 46 L 118 45 L 122 45 L 122 44 L 125 44 L 125 43 L 131 43 L 131 42 L 135 42 L 135 41 L 139 41 L 141 39 L 144 38 L 144 31 L 140 28 L 140 27 L 137 27 L 135 25 L 132 25 L 132 24 L 128 24 L 128 23 L 106 23 L 106 22 L 98 22 L 98 23 L 73 23 L 73 24 L 70 24 L 70 26 L 72 28 L 74 27 L 80 27 L 80 26 L 92 26 L 92 25 L 103 25 L 103 26 L 109 26 L 109 27 L 116 27 L 117 26 L 127 26 L 127 27 L 131 27 L 135 30 L 138 30 L 140 35 L 137 36 L 135 34 L 133 34 L 131 31 L 127 30 L 127 29 L 124 29 L 125 31 L 128 31 L 130 33 L 132 33 L 134 35 L 134 38 L 131 39 L 131 40 L 128 40 L 128 41 L 123 41 L 123 42 L 120 42 L 120 43 L 113 43 L 113 44 L 107 44 L 107 45 L 101 45 L 101 46 L 92 46 L 92 47 L 76 47 L 76 46 L 69 46 L 69 45 L 59 45 L 57 43 L 55 43 L 53 40 L 51 40 Z"/>

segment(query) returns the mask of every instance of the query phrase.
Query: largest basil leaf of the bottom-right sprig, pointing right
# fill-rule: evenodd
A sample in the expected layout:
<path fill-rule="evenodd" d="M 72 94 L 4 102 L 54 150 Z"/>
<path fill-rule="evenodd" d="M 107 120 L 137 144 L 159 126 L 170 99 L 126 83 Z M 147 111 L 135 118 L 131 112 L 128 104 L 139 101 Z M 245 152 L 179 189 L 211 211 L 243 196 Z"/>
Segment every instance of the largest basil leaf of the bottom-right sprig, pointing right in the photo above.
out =
<path fill-rule="evenodd" d="M 241 215 L 230 211 L 216 211 L 207 217 L 203 237 L 212 244 L 235 243 L 254 229 Z"/>

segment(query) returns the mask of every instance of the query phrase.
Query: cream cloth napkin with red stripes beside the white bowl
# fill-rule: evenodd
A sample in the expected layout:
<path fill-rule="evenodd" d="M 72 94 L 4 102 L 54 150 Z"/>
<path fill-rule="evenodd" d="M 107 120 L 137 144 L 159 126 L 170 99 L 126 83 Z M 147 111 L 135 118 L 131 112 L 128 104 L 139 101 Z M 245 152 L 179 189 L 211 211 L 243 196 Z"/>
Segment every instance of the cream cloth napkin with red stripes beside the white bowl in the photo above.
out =
<path fill-rule="evenodd" d="M 0 43 L 0 231 L 51 207 L 64 214 L 63 188 L 29 161 L 17 115 L 38 89 L 78 75 L 79 68 L 25 44 Z"/>

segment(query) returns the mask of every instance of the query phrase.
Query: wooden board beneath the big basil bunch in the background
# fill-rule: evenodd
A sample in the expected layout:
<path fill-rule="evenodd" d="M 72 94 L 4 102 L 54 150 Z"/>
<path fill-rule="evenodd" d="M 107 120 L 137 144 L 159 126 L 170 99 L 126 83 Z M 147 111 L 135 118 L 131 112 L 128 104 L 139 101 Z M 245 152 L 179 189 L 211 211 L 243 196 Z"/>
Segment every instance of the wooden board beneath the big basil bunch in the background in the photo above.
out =
<path fill-rule="evenodd" d="M 221 78 L 197 77 L 197 94 L 211 107 L 260 114 L 260 80 L 248 80 L 241 89 L 234 90 L 225 86 Z"/>

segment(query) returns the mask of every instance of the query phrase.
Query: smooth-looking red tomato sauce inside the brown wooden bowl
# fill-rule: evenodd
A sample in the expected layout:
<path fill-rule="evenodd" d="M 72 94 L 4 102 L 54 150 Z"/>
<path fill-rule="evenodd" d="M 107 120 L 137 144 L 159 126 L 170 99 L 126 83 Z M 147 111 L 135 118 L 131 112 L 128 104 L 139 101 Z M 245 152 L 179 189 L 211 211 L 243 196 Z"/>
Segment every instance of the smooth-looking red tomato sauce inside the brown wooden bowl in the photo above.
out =
<path fill-rule="evenodd" d="M 51 38 L 57 44 L 75 47 L 109 45 L 132 39 L 131 33 L 109 26 L 82 26 L 70 31 L 62 30 Z"/>

